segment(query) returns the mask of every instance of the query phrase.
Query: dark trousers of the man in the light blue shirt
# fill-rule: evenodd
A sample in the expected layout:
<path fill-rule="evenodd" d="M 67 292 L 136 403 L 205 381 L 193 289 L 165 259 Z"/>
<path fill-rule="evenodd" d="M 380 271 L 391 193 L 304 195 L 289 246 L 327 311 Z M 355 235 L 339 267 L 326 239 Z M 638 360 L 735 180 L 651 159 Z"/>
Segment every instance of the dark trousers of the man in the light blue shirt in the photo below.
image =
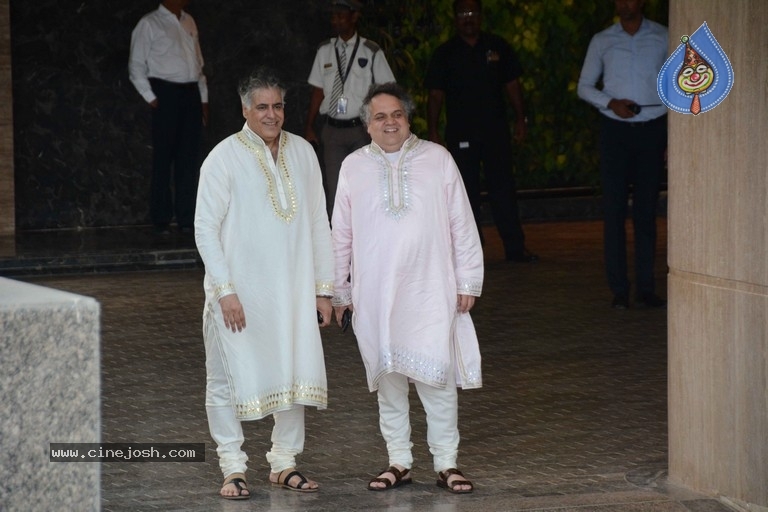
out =
<path fill-rule="evenodd" d="M 604 117 L 599 146 L 608 285 L 614 295 L 629 295 L 626 219 L 631 191 L 636 294 L 654 293 L 656 207 L 667 147 L 666 116 L 646 123 Z"/>

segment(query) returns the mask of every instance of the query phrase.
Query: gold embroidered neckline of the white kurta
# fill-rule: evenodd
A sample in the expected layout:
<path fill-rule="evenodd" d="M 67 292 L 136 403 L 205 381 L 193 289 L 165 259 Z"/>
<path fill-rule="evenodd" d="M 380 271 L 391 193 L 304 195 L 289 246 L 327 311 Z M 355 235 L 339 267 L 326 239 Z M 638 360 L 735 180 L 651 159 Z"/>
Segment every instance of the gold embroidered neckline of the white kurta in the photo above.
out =
<path fill-rule="evenodd" d="M 256 140 L 254 140 L 254 138 Z M 287 196 L 286 207 L 283 207 L 283 204 L 280 201 L 280 188 L 277 186 L 275 175 L 272 174 L 269 164 L 266 161 L 267 149 L 264 141 L 261 137 L 251 131 L 247 125 L 237 134 L 237 140 L 240 141 L 240 143 L 256 157 L 256 161 L 259 162 L 259 167 L 261 167 L 264 177 L 267 180 L 269 200 L 272 203 L 272 209 L 274 210 L 275 215 L 290 224 L 296 217 L 298 202 L 296 200 L 296 189 L 293 186 L 293 179 L 291 178 L 291 173 L 288 171 L 288 166 L 285 163 L 285 146 L 288 143 L 288 134 L 285 131 L 280 133 L 280 146 L 277 150 L 277 178 L 283 186 L 283 193 Z"/>

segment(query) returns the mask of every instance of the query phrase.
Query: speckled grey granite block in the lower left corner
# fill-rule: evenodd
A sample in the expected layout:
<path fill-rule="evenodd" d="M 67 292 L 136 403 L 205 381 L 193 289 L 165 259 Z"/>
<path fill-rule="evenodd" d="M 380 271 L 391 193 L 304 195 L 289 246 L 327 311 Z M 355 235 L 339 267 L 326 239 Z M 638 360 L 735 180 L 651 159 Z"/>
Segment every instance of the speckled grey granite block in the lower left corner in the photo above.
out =
<path fill-rule="evenodd" d="M 100 306 L 0 278 L 0 510 L 99 510 L 97 462 L 50 443 L 101 439 Z"/>

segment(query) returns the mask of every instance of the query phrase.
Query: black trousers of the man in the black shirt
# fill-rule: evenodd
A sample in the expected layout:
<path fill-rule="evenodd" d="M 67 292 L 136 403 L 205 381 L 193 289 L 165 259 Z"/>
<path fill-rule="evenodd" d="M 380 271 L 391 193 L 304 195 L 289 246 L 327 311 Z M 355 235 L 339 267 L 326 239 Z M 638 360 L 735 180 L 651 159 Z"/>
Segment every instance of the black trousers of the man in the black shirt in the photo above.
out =
<path fill-rule="evenodd" d="M 509 137 L 494 136 L 483 140 L 448 141 L 448 149 L 459 167 L 469 202 L 480 219 L 482 184 L 485 176 L 491 214 L 504 242 L 507 257 L 519 256 L 525 251 L 525 235 L 520 224 L 517 204 L 517 185 L 512 166 L 512 144 Z M 478 230 L 480 223 L 478 222 Z M 480 231 L 482 237 L 482 231 Z"/>

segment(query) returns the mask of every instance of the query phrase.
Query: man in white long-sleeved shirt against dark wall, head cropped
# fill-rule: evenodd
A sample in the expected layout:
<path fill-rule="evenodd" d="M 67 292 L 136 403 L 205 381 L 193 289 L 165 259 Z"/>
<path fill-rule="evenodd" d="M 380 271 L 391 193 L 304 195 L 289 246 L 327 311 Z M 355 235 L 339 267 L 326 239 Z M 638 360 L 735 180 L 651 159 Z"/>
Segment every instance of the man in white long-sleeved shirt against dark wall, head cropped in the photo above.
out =
<path fill-rule="evenodd" d="M 184 8 L 189 0 L 163 0 L 131 35 L 128 72 L 152 107 L 150 218 L 168 233 L 175 215 L 182 233 L 192 233 L 200 166 L 200 136 L 208 121 L 208 87 L 197 25 Z M 171 194 L 171 175 L 173 190 Z"/>

